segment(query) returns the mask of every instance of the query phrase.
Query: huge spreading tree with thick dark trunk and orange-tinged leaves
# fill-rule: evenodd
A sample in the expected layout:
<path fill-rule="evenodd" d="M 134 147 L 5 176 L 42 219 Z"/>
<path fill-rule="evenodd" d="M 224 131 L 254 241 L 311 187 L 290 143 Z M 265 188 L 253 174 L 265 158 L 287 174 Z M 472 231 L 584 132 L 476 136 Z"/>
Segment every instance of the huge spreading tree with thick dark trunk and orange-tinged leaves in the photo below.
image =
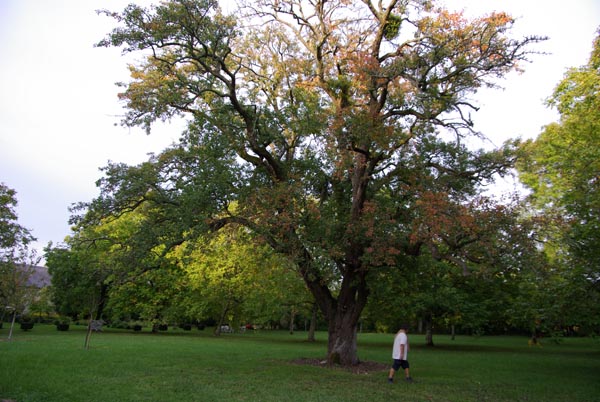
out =
<path fill-rule="evenodd" d="M 328 359 L 342 364 L 358 361 L 371 270 L 423 247 L 460 265 L 482 258 L 464 249 L 485 234 L 472 218 L 488 208 L 478 184 L 511 167 L 514 144 L 472 151 L 461 138 L 474 134 L 469 96 L 540 40 L 508 37 L 509 15 L 467 20 L 424 0 L 105 13 L 119 26 L 99 45 L 145 57 L 122 84 L 124 123 L 189 124 L 149 162 L 109 166 L 88 220 L 148 201 L 173 244 L 247 227 L 294 261 L 328 320 Z"/>

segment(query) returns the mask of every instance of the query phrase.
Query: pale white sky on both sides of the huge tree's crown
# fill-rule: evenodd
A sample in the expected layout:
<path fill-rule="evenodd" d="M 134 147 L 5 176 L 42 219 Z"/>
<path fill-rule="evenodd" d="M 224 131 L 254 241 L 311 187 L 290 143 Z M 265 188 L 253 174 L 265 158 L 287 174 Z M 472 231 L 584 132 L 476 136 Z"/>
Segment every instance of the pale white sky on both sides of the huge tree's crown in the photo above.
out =
<path fill-rule="evenodd" d="M 179 138 L 181 124 L 150 136 L 119 124 L 116 82 L 128 81 L 118 49 L 95 48 L 114 28 L 96 10 L 120 11 L 151 0 L 0 0 L 0 182 L 17 192 L 18 222 L 48 242 L 70 234 L 69 206 L 98 195 L 95 182 L 109 161 L 137 164 Z M 475 129 L 500 145 L 535 138 L 556 121 L 544 105 L 567 68 L 587 63 L 600 26 L 597 0 L 444 0 L 477 16 L 506 11 L 517 18 L 513 35 L 548 36 L 525 73 L 511 73 L 502 90 L 481 90 Z M 507 190 L 508 191 L 508 190 Z M 43 263 L 43 261 L 42 261 Z"/>

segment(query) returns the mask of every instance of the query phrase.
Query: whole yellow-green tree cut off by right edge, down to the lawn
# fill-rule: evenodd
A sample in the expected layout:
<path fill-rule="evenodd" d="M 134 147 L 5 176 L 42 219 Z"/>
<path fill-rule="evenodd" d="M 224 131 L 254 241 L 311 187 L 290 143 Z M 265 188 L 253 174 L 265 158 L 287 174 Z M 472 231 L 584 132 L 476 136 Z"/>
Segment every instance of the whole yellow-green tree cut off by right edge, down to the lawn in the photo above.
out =
<path fill-rule="evenodd" d="M 600 323 L 600 34 L 589 62 L 567 71 L 548 100 L 560 120 L 523 144 L 517 165 L 540 215 L 550 267 L 544 316 L 553 324 Z M 557 297 L 562 295 L 563 297 Z M 557 302 L 558 301 L 558 302 Z M 554 306 L 554 308 L 550 308 Z M 584 316 L 576 311 L 585 312 Z M 569 313 L 567 313 L 569 311 Z M 577 318 L 575 318 L 577 317 Z M 572 319 L 569 323 L 565 320 Z"/>

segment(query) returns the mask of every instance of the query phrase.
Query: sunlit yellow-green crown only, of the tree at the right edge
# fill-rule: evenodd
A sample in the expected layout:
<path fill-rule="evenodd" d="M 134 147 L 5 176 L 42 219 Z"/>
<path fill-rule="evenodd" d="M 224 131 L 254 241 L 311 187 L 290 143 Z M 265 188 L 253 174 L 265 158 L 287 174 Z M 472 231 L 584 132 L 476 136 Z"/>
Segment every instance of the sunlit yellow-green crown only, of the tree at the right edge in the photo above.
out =
<path fill-rule="evenodd" d="M 568 226 L 562 250 L 582 259 L 600 279 L 600 35 L 589 62 L 567 71 L 548 99 L 560 113 L 535 139 L 523 144 L 521 181 L 534 208 Z"/>

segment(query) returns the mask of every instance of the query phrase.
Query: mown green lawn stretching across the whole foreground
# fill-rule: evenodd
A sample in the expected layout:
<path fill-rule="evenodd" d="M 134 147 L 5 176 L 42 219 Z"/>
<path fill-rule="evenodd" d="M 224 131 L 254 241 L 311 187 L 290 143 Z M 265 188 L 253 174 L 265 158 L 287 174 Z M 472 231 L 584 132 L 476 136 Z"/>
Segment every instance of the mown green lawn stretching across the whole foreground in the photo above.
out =
<path fill-rule="evenodd" d="M 84 350 L 85 330 L 36 325 L 6 342 L 0 330 L 0 400 L 26 401 L 600 401 L 600 341 L 568 338 L 530 348 L 524 337 L 411 334 L 415 383 L 387 384 L 387 369 L 352 374 L 292 364 L 321 358 L 297 332 L 224 334 L 107 330 Z M 393 335 L 360 334 L 363 360 L 388 365 Z"/>

